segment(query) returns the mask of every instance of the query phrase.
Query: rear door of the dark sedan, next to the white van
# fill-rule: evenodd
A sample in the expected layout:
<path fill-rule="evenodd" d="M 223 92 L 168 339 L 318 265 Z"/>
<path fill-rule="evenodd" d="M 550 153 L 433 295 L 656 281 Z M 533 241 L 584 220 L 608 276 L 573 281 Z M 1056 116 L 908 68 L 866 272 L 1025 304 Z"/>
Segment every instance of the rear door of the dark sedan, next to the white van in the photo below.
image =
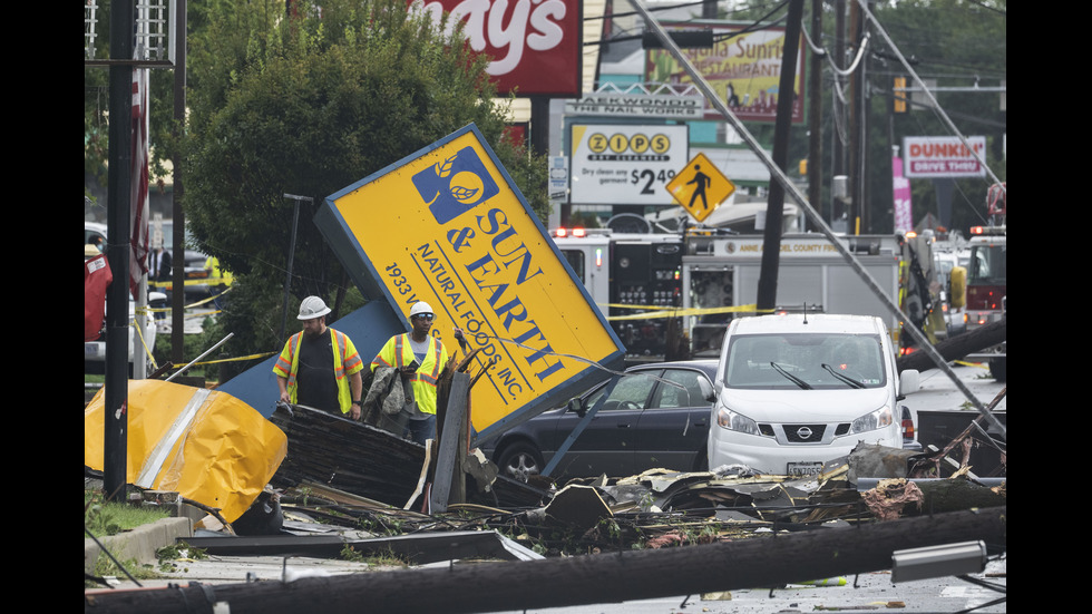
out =
<path fill-rule="evenodd" d="M 631 472 L 653 468 L 690 471 L 705 454 L 712 402 L 705 400 L 698 369 L 666 369 L 637 422 L 637 444 Z"/>

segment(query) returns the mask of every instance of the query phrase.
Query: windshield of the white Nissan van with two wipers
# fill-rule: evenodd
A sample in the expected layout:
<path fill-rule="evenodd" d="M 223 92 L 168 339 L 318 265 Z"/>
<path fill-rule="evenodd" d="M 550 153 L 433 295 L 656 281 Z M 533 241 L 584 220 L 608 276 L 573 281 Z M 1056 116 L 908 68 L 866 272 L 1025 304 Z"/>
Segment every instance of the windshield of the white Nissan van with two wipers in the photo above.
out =
<path fill-rule="evenodd" d="M 724 384 L 751 389 L 881 388 L 884 345 L 874 334 L 749 334 L 728 347 Z"/>

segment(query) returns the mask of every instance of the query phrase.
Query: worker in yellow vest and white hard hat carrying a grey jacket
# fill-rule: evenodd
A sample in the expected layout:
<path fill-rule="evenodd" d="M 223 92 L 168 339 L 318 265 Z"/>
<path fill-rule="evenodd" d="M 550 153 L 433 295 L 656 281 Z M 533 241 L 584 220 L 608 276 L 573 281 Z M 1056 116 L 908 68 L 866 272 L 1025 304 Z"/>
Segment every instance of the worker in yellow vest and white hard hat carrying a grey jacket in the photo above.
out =
<path fill-rule="evenodd" d="M 403 377 L 410 378 L 416 407 L 409 419 L 408 435 L 421 445 L 436 438 L 436 388 L 448 363 L 447 348 L 429 334 L 435 316 L 428 303 L 415 303 L 410 309 L 413 329 L 390 338 L 371 361 L 372 371 L 380 367 L 393 367 Z M 464 340 L 462 331 L 458 328 L 455 329 L 455 338 L 460 343 Z"/>

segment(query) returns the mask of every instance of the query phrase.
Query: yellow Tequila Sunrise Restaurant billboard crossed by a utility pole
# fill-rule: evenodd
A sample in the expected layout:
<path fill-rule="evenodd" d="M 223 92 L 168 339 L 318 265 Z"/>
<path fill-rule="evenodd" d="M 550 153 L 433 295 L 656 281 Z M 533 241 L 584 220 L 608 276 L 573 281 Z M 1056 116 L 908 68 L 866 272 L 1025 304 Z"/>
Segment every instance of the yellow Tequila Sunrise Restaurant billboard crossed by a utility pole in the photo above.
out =
<path fill-rule="evenodd" d="M 693 25 L 664 23 L 664 29 L 686 30 Z M 766 28 L 744 32 L 743 25 L 713 25 L 712 49 L 683 49 L 683 55 L 702 74 L 713 91 L 723 96 L 724 104 L 743 121 L 774 121 L 778 98 L 781 97 L 781 62 L 784 51 L 784 28 Z M 793 78 L 792 121 L 803 123 L 803 50 L 799 46 L 797 75 Z M 677 60 L 665 49 L 650 49 L 645 80 L 662 84 L 692 85 L 693 80 Z M 711 105 L 705 119 L 722 119 Z"/>

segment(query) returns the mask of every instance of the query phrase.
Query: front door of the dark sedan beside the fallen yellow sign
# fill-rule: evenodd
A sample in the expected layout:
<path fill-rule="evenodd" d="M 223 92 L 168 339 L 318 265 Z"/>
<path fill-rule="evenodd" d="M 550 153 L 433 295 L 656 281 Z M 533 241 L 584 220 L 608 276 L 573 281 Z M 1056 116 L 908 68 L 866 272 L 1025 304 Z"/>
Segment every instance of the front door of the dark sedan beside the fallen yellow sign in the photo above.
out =
<path fill-rule="evenodd" d="M 660 371 L 615 377 L 616 383 L 602 407 L 583 432 L 573 441 L 568 454 L 557 464 L 554 476 L 592 477 L 606 474 L 611 477 L 627 476 L 633 467 L 636 449 L 637 422 L 649 405 Z M 652 376 L 652 377 L 650 377 Z M 610 383 L 610 382 L 608 382 Z M 591 409 L 608 390 L 603 386 L 583 399 Z M 554 432 L 556 450 L 581 421 L 575 411 L 567 411 L 558 420 Z"/>

